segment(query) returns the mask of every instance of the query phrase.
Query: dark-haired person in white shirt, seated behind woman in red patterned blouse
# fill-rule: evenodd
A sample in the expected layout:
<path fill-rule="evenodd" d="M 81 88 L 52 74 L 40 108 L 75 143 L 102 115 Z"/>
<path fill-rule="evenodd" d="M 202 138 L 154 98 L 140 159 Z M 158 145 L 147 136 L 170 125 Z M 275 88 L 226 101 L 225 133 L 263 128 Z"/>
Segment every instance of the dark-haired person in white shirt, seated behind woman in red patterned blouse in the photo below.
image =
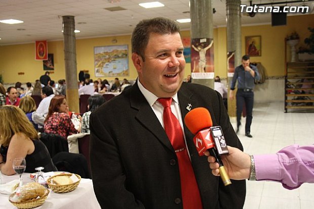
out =
<path fill-rule="evenodd" d="M 53 89 L 50 86 L 45 86 L 42 88 L 41 96 L 43 100 L 38 105 L 34 122 L 37 123 L 39 127 L 44 127 L 44 121 L 49 111 L 50 101 L 55 96 L 55 94 L 53 93 Z"/>

